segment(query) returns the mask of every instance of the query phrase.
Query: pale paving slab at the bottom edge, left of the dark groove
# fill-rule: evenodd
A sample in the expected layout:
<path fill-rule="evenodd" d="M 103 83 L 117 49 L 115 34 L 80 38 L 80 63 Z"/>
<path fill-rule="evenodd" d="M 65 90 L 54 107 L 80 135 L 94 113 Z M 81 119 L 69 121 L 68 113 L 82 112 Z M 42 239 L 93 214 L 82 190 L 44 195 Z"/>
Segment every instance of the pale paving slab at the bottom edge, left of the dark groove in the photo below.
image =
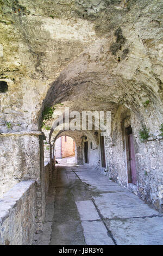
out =
<path fill-rule="evenodd" d="M 102 221 L 82 222 L 86 245 L 114 245 Z"/>

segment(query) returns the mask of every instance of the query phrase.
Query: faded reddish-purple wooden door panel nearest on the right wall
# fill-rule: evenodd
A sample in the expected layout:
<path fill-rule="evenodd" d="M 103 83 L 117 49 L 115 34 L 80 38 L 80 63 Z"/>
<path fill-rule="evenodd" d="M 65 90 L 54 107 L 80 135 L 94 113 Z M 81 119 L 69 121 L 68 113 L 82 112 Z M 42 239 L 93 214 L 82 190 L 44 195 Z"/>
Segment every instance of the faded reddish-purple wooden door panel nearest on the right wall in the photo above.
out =
<path fill-rule="evenodd" d="M 133 133 L 130 133 L 128 135 L 128 144 L 129 144 L 129 161 L 130 161 L 130 170 L 131 170 L 131 183 L 136 185 L 136 162 L 135 162 Z"/>

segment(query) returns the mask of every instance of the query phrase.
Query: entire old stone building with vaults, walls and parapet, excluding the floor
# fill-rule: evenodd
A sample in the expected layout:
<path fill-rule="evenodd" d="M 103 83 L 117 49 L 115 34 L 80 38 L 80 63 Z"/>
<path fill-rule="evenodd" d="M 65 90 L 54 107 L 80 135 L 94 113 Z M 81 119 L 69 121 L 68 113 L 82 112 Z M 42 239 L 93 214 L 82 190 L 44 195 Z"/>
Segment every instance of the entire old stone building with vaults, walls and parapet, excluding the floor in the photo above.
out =
<path fill-rule="evenodd" d="M 159 0 L 0 1 L 0 244 L 41 232 L 61 136 L 162 213 L 162 36 Z M 63 129 L 65 107 L 111 112 L 110 135 Z"/>

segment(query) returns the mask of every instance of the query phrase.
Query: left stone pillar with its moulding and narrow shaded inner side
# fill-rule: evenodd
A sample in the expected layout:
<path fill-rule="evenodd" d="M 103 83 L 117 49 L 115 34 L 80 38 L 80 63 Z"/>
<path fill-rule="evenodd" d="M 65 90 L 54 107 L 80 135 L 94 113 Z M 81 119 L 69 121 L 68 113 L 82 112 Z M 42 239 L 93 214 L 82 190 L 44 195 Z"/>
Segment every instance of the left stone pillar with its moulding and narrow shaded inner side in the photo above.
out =
<path fill-rule="evenodd" d="M 45 217 L 45 172 L 42 132 L 2 133 L 0 170 L 1 196 L 20 181 L 36 180 L 36 226 L 42 229 Z"/>

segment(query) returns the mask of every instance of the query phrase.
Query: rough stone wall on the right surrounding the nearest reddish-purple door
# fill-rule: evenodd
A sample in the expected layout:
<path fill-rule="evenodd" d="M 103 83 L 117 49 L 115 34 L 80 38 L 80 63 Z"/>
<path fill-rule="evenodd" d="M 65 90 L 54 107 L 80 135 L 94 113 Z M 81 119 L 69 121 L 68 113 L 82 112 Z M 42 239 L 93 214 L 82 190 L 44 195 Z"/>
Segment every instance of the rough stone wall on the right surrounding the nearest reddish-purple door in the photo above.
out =
<path fill-rule="evenodd" d="M 149 120 L 148 120 L 149 121 Z M 156 122 L 156 120 L 155 120 Z M 149 127 L 148 123 L 147 127 Z M 136 160 L 136 186 L 129 181 L 127 141 L 125 128 L 131 125 L 134 136 L 134 151 Z M 112 122 L 111 137 L 105 138 L 106 157 L 108 162 L 108 177 L 118 184 L 128 187 L 142 199 L 153 204 L 156 209 L 163 210 L 163 172 L 162 172 L 162 137 L 153 135 L 149 129 L 149 137 L 141 142 L 139 115 L 121 106 L 118 108 Z"/>

